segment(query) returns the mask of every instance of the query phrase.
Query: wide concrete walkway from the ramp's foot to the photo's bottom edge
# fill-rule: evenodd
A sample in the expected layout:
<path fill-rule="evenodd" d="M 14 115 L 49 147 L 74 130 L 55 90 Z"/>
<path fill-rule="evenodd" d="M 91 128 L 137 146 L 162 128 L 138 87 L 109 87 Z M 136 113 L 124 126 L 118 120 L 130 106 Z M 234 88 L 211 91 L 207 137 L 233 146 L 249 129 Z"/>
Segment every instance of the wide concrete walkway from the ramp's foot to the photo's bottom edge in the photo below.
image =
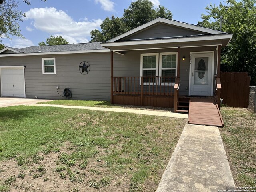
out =
<path fill-rule="evenodd" d="M 186 124 L 157 192 L 235 189 L 217 127 Z"/>

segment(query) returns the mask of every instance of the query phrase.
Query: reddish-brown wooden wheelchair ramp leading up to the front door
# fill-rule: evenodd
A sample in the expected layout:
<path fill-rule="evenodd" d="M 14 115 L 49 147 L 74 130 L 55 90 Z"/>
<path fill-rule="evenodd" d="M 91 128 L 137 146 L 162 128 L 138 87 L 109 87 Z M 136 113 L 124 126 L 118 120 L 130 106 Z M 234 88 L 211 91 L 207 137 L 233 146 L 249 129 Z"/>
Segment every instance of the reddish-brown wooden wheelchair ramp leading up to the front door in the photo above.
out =
<path fill-rule="evenodd" d="M 224 123 L 214 99 L 191 98 L 188 123 L 223 127 Z"/>

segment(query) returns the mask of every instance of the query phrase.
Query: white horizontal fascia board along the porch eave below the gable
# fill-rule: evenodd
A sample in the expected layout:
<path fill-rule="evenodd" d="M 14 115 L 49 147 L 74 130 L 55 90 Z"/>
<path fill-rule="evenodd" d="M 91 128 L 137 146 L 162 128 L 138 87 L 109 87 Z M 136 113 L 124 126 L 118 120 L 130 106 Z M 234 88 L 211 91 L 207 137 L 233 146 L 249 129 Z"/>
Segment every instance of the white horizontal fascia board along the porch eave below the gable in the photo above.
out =
<path fill-rule="evenodd" d="M 145 45 L 145 44 L 205 41 L 205 40 L 220 40 L 220 39 L 231 39 L 232 35 L 233 34 L 221 34 L 221 35 L 214 35 L 214 36 L 175 38 L 175 39 L 164 39 L 164 40 L 143 40 L 143 41 L 129 41 L 129 42 L 109 42 L 109 43 L 102 44 L 102 46 L 109 47 L 109 46 Z"/>

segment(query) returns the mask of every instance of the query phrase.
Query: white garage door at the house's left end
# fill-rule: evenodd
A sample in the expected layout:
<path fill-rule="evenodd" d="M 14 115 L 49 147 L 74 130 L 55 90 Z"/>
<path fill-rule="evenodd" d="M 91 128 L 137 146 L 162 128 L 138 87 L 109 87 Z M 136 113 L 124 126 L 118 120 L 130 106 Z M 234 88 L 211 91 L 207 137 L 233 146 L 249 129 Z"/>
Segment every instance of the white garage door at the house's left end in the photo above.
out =
<path fill-rule="evenodd" d="M 22 68 L 1 68 L 2 96 L 25 97 Z"/>

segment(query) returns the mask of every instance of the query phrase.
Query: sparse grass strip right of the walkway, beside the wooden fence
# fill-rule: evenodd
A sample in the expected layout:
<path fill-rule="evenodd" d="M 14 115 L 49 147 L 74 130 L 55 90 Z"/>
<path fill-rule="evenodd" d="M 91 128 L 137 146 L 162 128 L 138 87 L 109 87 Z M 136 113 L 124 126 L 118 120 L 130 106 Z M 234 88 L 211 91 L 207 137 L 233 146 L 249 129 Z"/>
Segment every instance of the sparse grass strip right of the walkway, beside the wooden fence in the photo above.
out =
<path fill-rule="evenodd" d="M 256 116 L 246 108 L 221 108 L 220 128 L 237 187 L 256 186 Z"/>

